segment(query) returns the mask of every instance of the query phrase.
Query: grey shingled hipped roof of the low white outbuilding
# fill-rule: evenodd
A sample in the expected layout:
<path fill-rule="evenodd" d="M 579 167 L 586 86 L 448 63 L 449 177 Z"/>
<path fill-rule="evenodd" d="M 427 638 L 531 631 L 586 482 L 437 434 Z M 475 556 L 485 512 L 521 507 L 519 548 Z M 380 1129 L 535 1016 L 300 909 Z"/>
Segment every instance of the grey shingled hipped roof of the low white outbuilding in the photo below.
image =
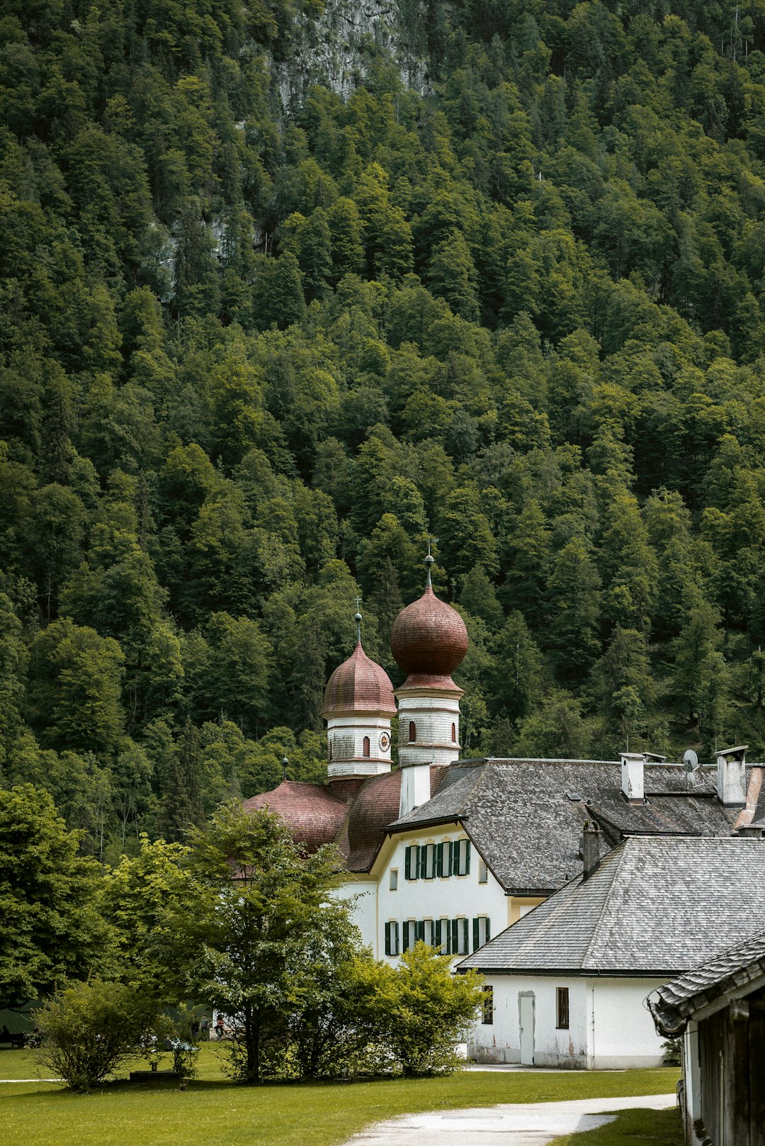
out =
<path fill-rule="evenodd" d="M 632 837 L 459 970 L 676 975 L 765 927 L 765 842 Z"/>

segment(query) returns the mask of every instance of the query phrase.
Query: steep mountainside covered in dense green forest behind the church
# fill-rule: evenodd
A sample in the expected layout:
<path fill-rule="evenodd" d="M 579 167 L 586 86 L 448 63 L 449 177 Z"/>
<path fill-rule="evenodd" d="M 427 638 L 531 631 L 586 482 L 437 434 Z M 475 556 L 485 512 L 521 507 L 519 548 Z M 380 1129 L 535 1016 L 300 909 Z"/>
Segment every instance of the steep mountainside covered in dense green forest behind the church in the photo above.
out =
<path fill-rule="evenodd" d="M 2 783 L 107 857 L 321 778 L 428 535 L 465 754 L 765 749 L 765 5 L 330 2 L 3 5 Z"/>

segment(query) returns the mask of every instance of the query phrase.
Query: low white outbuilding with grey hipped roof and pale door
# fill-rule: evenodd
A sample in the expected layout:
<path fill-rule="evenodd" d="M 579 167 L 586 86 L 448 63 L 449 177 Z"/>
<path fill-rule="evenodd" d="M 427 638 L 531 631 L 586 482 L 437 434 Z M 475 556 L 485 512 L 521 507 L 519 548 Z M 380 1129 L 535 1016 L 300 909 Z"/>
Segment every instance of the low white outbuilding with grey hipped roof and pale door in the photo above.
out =
<path fill-rule="evenodd" d="M 483 1062 L 660 1066 L 647 996 L 765 926 L 765 841 L 630 837 L 457 965 L 486 976 L 468 1044 Z"/>

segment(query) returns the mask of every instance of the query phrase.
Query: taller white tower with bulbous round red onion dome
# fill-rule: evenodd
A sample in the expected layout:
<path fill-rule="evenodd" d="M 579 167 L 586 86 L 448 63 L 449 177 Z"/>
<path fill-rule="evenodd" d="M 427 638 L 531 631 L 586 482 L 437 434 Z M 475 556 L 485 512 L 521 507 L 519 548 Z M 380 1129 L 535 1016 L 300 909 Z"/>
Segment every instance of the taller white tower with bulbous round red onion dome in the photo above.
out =
<path fill-rule="evenodd" d="M 408 674 L 396 691 L 402 816 L 431 799 L 431 764 L 459 758 L 459 700 L 465 693 L 451 674 L 467 652 L 467 629 L 459 613 L 433 592 L 429 552 L 425 565 L 425 592 L 399 613 L 391 634 L 391 652 Z"/>

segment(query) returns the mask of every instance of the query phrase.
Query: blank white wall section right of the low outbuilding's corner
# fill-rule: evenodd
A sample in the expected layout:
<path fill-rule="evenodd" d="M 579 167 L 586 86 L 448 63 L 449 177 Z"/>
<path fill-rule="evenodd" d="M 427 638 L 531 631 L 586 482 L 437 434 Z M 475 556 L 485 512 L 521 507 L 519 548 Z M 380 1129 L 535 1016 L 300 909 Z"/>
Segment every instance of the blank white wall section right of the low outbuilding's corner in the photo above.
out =
<path fill-rule="evenodd" d="M 644 999 L 665 982 L 665 978 L 590 980 L 594 1010 L 590 1053 L 596 1069 L 661 1066 L 663 1038 Z"/>

